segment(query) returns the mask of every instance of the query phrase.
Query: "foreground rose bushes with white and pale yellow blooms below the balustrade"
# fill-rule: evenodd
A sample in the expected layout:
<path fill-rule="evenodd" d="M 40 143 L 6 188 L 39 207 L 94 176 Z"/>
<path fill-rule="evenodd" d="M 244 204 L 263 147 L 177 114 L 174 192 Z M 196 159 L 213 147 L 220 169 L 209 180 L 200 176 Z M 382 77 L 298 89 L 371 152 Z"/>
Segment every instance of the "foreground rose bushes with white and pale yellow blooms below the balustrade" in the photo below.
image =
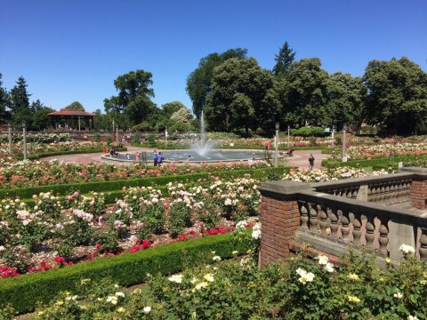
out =
<path fill-rule="evenodd" d="M 54 289 L 67 285 L 69 292 L 60 296 L 45 292 L 48 298 L 42 298 L 51 302 L 37 308 L 35 317 L 421 320 L 427 315 L 427 266 L 410 252 L 399 267 L 389 264 L 384 269 L 375 268 L 371 257 L 354 253 L 344 257 L 339 265 L 326 256 L 314 260 L 294 256 L 286 263 L 270 263 L 262 269 L 248 257 L 219 262 L 228 257 L 230 253 L 222 256 L 222 252 L 215 250 L 197 267 L 168 277 L 162 276 L 163 265 L 159 265 L 159 275 L 147 276 L 147 270 L 151 272 L 152 268 L 145 260 L 139 260 L 147 268 L 140 275 L 133 269 L 125 271 L 148 279 L 149 285 L 133 291 L 118 285 L 123 281 L 129 283 L 124 279 L 125 272 L 117 274 L 114 281 L 100 282 L 99 274 L 93 271 L 101 273 L 102 269 L 91 268 L 87 274 L 79 275 L 84 277 L 65 278 L 75 284 L 63 284 L 64 281 L 58 281 L 64 279 L 60 278 L 60 270 L 52 272 L 44 284 L 50 280 Z M 139 267 L 134 264 L 134 268 Z M 175 270 L 178 272 L 179 268 Z M 44 287 L 28 286 L 30 294 L 40 296 L 37 289 Z M 22 306 L 19 300 L 12 301 Z M 23 302 L 33 300 L 24 296 Z"/>

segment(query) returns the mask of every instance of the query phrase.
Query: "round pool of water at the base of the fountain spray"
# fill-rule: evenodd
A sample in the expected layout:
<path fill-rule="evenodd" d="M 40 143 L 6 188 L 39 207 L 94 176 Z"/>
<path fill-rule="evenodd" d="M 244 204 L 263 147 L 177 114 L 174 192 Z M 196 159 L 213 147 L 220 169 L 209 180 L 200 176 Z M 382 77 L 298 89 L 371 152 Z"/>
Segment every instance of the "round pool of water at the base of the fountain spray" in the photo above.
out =
<path fill-rule="evenodd" d="M 262 160 L 264 152 L 260 150 L 223 150 L 223 149 L 210 149 L 206 150 L 205 154 L 198 155 L 195 150 L 165 150 L 161 151 L 162 156 L 165 158 L 165 163 L 218 163 L 218 162 L 236 162 L 248 160 Z M 142 152 L 140 152 L 140 161 L 142 161 Z M 128 156 L 126 156 L 128 155 Z M 270 151 L 270 155 L 273 152 Z M 191 160 L 189 161 L 189 156 Z M 104 155 L 101 156 L 104 160 L 118 161 L 118 162 L 135 162 L 135 153 L 119 153 L 118 156 Z M 153 152 L 147 152 L 147 161 L 153 161 Z"/>

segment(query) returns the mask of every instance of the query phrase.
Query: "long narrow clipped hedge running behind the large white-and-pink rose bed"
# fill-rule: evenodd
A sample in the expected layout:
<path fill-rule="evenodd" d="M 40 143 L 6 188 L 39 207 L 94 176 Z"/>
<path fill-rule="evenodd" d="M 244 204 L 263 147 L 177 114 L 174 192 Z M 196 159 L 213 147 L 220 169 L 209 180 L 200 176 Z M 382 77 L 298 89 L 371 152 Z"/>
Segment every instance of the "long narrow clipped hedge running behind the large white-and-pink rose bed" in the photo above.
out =
<path fill-rule="evenodd" d="M 36 186 L 28 188 L 12 188 L 12 189 L 0 189 L 0 199 L 5 197 L 16 197 L 19 196 L 21 199 L 30 198 L 33 195 L 37 195 L 40 192 L 52 191 L 54 194 L 59 193 L 60 195 L 67 195 L 68 193 L 78 190 L 82 194 L 89 193 L 90 191 L 106 192 L 121 190 L 123 187 L 149 187 L 149 186 L 162 186 L 169 182 L 175 181 L 196 181 L 199 179 L 206 179 L 209 176 L 219 177 L 243 177 L 245 174 L 251 174 L 253 178 L 259 178 L 266 174 L 278 173 L 282 174 L 288 172 L 289 167 L 279 168 L 262 168 L 254 170 L 235 170 L 229 172 L 199 172 L 189 173 L 175 176 L 163 176 L 163 177 L 149 177 L 134 180 L 108 180 L 108 181 L 93 181 L 93 182 L 81 182 L 81 183 L 69 183 L 69 184 L 58 184 L 58 185 L 47 185 L 47 186 Z"/>

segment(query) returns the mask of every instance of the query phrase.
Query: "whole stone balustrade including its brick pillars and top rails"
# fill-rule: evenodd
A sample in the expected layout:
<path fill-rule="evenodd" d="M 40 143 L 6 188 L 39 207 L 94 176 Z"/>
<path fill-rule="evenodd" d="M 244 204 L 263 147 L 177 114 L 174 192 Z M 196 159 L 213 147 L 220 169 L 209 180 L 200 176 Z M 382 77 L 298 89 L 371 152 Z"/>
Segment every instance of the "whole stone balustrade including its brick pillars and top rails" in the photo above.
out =
<path fill-rule="evenodd" d="M 262 265 L 286 258 L 292 241 L 336 256 L 364 247 L 380 262 L 399 262 L 399 247 L 408 244 L 427 260 L 427 171 L 316 184 L 272 181 L 261 193 Z"/>

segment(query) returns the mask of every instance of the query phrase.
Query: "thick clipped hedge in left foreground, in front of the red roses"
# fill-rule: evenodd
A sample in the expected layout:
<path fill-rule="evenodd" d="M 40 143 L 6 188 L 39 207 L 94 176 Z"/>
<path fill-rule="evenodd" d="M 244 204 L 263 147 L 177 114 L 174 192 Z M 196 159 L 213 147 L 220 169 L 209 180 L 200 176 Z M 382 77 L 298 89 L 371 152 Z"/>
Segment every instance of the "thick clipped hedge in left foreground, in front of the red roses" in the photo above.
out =
<path fill-rule="evenodd" d="M 124 253 L 112 258 L 79 263 L 16 278 L 0 279 L 0 308 L 11 303 L 18 313 L 33 311 L 39 302 L 57 298 L 59 292 L 73 292 L 81 279 L 100 281 L 109 277 L 117 284 L 130 286 L 147 281 L 147 274 L 172 275 L 201 260 L 210 261 L 212 251 L 223 259 L 234 250 L 245 252 L 243 245 L 234 244 L 230 234 L 205 236 L 195 240 L 164 245 L 135 253 Z"/>

